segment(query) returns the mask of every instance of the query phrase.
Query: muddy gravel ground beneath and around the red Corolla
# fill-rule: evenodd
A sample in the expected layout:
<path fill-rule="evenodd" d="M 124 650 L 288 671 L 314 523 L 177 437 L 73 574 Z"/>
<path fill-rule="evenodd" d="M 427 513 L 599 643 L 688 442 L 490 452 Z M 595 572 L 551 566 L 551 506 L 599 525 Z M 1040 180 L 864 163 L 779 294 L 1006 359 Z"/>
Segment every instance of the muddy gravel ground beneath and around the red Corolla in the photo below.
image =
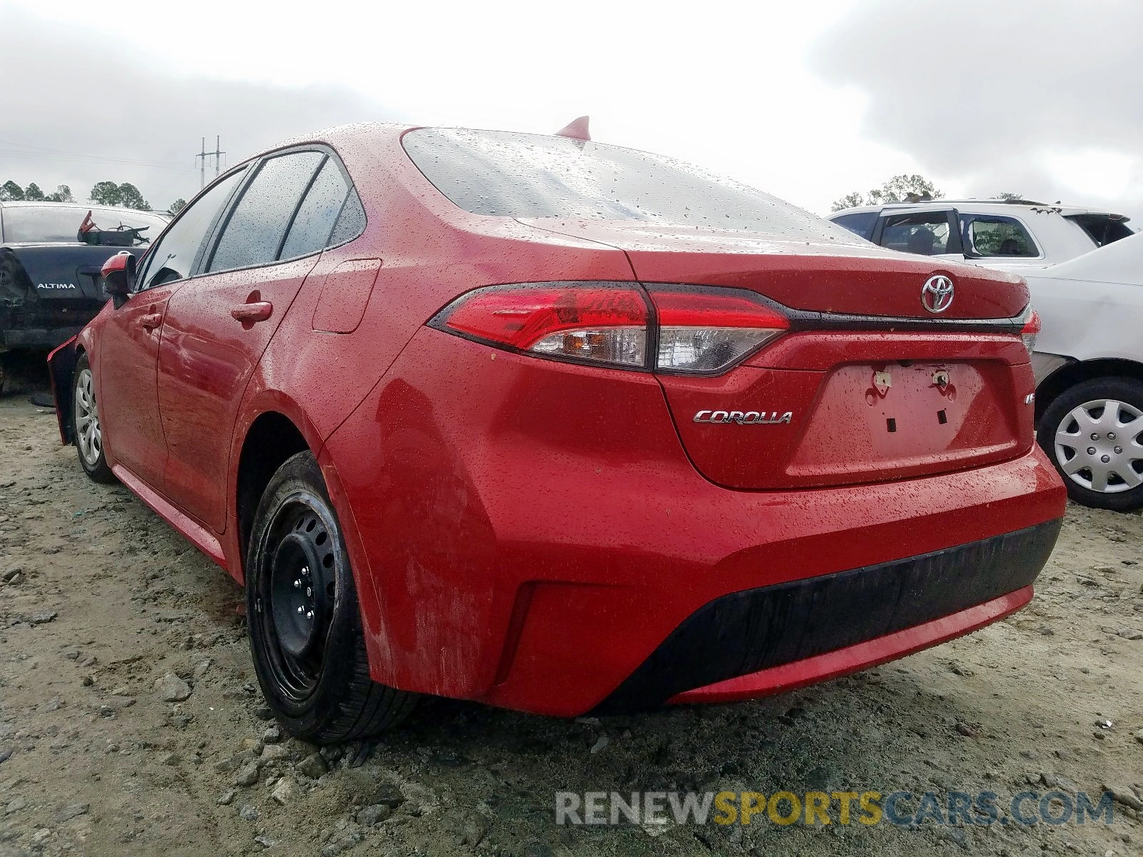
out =
<path fill-rule="evenodd" d="M 602 721 L 426 699 L 383 739 L 319 754 L 262 707 L 230 579 L 126 489 L 88 482 L 50 413 L 3 399 L 0 857 L 1141 854 L 1141 546 L 1138 515 L 1072 506 L 1028 609 L 796 694 Z M 1113 823 L 553 820 L 561 790 L 989 790 L 1005 806 L 1045 784 L 1113 788 Z"/>

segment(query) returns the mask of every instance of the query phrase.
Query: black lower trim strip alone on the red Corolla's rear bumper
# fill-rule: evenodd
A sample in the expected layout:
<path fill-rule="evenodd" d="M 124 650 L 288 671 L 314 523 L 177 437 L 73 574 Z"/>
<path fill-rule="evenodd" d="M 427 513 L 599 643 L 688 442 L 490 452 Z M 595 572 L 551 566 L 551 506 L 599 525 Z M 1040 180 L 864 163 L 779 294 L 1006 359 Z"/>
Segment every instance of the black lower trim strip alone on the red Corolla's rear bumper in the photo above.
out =
<path fill-rule="evenodd" d="M 885 636 L 1032 583 L 1062 519 L 943 551 L 724 595 L 688 616 L 597 714 Z"/>

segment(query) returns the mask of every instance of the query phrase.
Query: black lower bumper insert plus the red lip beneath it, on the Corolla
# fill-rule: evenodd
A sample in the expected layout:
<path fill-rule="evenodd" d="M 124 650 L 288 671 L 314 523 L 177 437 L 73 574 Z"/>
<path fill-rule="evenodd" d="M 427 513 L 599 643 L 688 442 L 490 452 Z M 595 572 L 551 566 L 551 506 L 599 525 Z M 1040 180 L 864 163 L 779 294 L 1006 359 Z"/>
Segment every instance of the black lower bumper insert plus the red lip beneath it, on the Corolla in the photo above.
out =
<path fill-rule="evenodd" d="M 672 631 L 597 712 L 774 692 L 968 633 L 1031 600 L 1058 535 L 1057 519 L 714 599 Z"/>

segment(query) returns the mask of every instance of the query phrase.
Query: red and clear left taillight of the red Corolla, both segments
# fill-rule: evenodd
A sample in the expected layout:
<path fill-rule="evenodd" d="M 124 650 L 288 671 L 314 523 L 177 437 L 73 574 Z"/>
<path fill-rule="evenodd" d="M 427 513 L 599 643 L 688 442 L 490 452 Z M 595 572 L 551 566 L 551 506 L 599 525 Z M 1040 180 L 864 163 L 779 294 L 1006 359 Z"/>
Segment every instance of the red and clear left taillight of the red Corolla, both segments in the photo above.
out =
<path fill-rule="evenodd" d="M 537 357 L 687 374 L 725 371 L 790 327 L 735 289 L 600 282 L 489 286 L 429 323 Z"/>

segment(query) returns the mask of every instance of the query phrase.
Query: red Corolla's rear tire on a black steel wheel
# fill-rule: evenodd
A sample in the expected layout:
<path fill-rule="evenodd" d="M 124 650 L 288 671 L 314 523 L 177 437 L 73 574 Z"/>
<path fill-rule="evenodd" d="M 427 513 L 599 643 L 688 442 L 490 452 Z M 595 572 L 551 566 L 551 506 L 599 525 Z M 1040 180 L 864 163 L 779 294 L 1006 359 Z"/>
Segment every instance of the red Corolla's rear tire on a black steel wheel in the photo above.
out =
<path fill-rule="evenodd" d="M 415 694 L 369 678 L 349 555 L 309 451 L 278 468 L 258 503 L 246 607 L 258 683 L 290 735 L 315 744 L 354 740 L 413 710 Z"/>

